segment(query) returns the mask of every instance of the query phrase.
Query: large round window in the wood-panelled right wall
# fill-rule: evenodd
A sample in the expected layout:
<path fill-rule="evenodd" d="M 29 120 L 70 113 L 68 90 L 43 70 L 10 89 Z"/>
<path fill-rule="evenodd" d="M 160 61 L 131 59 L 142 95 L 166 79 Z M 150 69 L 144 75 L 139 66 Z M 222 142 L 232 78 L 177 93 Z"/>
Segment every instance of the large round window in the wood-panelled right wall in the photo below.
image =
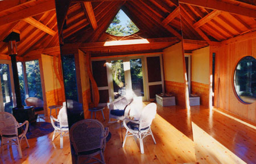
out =
<path fill-rule="evenodd" d="M 234 88 L 242 102 L 256 101 L 256 59 L 250 56 L 242 58 L 234 72 Z"/>

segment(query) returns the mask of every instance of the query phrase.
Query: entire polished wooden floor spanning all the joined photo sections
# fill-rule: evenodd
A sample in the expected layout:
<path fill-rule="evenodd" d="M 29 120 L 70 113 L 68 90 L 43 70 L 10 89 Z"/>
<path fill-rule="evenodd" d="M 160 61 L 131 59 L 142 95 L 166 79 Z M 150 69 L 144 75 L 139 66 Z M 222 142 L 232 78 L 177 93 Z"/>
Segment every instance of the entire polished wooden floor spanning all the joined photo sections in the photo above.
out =
<path fill-rule="evenodd" d="M 108 110 L 105 110 L 108 118 Z M 105 150 L 106 163 L 255 163 L 256 127 L 249 127 L 202 106 L 191 111 L 179 106 L 161 107 L 152 122 L 156 144 L 151 136 L 144 139 L 144 154 L 139 142 L 128 137 L 125 148 L 122 140 L 125 128 L 119 123 L 108 123 L 101 113 L 97 118 L 110 128 L 112 139 Z M 49 121 L 49 119 L 46 119 Z M 192 128 L 193 127 L 193 128 Z M 193 132 L 192 132 L 193 131 Z M 30 148 L 22 141 L 23 158 L 19 159 L 16 146 L 6 148 L 0 155 L 0 163 L 71 163 L 69 137 L 64 137 L 60 149 L 59 136 L 52 142 L 52 133 L 30 139 Z"/>

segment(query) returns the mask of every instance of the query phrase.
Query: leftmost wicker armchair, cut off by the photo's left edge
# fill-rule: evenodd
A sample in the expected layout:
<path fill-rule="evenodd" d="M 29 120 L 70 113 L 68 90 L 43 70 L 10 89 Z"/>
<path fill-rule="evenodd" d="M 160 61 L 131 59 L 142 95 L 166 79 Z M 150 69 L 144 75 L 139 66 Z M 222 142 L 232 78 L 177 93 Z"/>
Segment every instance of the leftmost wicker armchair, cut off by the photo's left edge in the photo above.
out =
<path fill-rule="evenodd" d="M 25 130 L 23 126 L 26 125 Z M 19 130 L 18 130 L 19 128 Z M 22 124 L 19 124 L 13 115 L 7 112 L 0 112 L 0 136 L 1 136 L 1 147 L 3 151 L 4 145 L 17 145 L 19 158 L 22 158 L 22 149 L 20 143 L 24 138 L 28 144 L 26 133 L 28 130 L 28 121 L 26 120 Z"/>

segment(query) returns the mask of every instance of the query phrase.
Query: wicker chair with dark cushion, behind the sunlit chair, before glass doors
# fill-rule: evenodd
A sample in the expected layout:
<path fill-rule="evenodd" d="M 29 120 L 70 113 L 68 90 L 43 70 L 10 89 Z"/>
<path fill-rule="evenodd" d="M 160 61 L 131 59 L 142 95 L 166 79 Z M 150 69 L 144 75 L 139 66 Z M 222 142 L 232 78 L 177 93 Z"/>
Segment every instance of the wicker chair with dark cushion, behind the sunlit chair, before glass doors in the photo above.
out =
<path fill-rule="evenodd" d="M 133 97 L 131 96 L 121 96 L 114 100 L 113 102 L 109 103 L 109 123 L 117 122 L 117 120 L 125 119 L 125 115 L 127 115 L 128 110 L 125 110 L 127 105 L 133 102 Z M 125 114 L 121 116 L 117 116 L 112 113 L 112 110 L 125 110 Z M 110 119 L 117 119 L 116 121 L 111 121 Z"/>

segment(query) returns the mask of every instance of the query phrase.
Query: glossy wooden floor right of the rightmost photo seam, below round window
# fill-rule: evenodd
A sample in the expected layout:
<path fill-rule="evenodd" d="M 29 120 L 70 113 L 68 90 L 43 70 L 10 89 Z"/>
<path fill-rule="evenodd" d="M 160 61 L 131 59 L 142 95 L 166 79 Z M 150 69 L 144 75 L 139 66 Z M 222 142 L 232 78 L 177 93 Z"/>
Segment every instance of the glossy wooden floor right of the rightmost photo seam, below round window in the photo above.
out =
<path fill-rule="evenodd" d="M 191 107 L 197 162 L 256 163 L 256 125 L 226 113 Z"/>

